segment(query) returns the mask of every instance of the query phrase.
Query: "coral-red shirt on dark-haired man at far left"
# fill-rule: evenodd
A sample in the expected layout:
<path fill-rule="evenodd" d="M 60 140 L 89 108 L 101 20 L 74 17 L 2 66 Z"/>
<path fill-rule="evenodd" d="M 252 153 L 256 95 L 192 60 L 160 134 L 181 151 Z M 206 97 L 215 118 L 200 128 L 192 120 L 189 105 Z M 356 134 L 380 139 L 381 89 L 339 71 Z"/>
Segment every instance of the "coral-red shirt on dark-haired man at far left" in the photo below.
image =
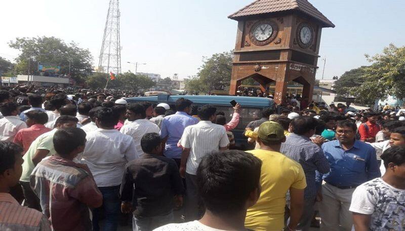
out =
<path fill-rule="evenodd" d="M 28 151 L 29 146 L 39 135 L 50 131 L 44 124 L 34 124 L 31 127 L 21 129 L 14 137 L 14 143 L 19 144 L 24 149 L 24 154 Z"/>

